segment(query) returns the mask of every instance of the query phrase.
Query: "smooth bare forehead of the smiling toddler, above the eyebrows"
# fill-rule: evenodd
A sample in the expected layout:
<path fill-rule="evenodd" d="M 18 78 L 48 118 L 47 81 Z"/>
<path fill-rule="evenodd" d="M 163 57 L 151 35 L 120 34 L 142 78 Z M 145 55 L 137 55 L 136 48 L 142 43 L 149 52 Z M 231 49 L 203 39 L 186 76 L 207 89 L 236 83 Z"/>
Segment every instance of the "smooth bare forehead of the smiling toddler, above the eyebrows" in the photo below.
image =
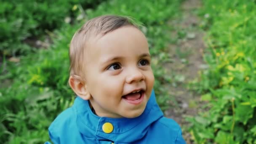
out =
<path fill-rule="evenodd" d="M 92 56 L 102 61 L 117 55 L 127 57 L 149 53 L 149 48 L 144 34 L 136 27 L 127 26 L 90 40 L 87 52 L 89 61 L 94 59 Z"/>

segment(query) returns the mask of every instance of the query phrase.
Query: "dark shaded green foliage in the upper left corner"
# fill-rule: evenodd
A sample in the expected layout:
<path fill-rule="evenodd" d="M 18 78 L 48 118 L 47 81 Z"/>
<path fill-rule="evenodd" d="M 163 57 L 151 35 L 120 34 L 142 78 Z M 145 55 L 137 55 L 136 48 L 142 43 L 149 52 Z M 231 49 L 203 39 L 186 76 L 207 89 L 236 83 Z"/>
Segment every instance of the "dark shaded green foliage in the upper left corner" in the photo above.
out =
<path fill-rule="evenodd" d="M 35 51 L 29 40 L 38 39 L 45 30 L 61 27 L 66 19 L 74 19 L 75 4 L 95 7 L 103 0 L 1 0 L 0 55 L 15 56 Z M 74 8 L 73 8 L 74 9 Z M 67 20 L 66 20 L 67 21 Z"/>

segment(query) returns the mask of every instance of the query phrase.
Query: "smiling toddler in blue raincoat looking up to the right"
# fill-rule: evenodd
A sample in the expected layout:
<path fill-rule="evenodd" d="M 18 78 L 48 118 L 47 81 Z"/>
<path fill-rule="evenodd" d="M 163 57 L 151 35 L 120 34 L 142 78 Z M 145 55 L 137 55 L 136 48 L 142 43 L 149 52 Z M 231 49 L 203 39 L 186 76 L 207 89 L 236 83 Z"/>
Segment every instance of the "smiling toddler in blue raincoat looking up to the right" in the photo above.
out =
<path fill-rule="evenodd" d="M 73 36 L 72 107 L 49 127 L 54 144 L 184 144 L 153 91 L 147 39 L 130 19 L 99 16 Z"/>

